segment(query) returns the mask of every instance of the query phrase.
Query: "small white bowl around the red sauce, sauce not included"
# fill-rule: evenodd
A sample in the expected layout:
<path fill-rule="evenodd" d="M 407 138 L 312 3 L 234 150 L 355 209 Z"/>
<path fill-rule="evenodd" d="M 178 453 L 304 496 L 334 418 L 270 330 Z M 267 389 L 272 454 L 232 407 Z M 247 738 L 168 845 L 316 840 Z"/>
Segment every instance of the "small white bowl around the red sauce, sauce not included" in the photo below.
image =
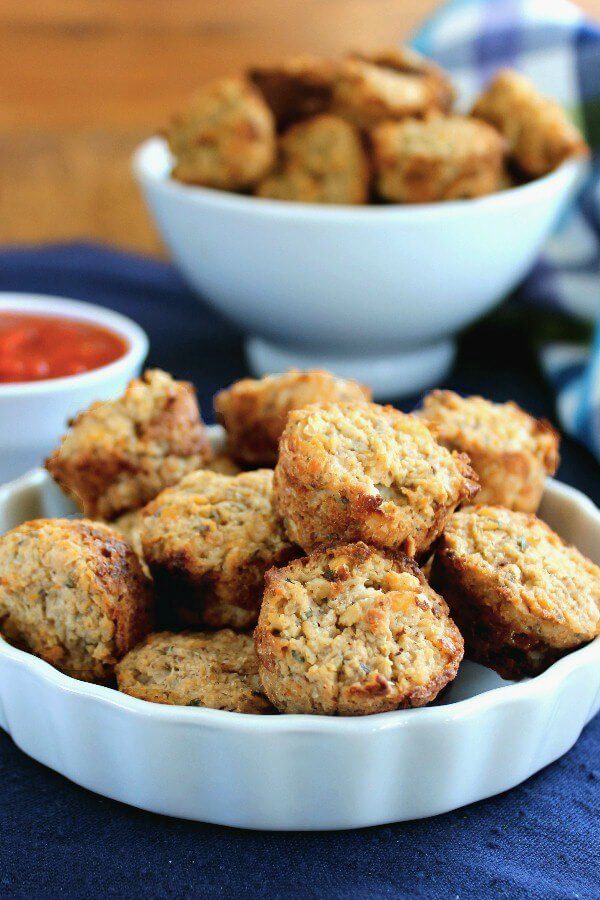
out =
<path fill-rule="evenodd" d="M 67 420 L 94 400 L 117 397 L 140 372 L 148 353 L 148 338 L 139 325 L 91 303 L 0 293 L 0 312 L 6 310 L 102 325 L 125 340 L 127 351 L 115 362 L 82 375 L 0 384 L 0 482 L 39 465 L 58 443 Z"/>

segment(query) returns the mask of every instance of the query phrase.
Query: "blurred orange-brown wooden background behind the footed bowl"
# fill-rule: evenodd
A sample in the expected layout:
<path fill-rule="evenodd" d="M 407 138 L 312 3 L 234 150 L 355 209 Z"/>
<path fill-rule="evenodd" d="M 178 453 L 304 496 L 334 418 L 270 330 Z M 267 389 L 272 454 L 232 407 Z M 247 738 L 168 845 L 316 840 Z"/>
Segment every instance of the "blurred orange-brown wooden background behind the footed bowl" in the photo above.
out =
<path fill-rule="evenodd" d="M 0 0 L 0 243 L 160 252 L 133 147 L 206 78 L 387 46 L 437 0 Z M 600 16 L 600 0 L 581 3 Z"/>

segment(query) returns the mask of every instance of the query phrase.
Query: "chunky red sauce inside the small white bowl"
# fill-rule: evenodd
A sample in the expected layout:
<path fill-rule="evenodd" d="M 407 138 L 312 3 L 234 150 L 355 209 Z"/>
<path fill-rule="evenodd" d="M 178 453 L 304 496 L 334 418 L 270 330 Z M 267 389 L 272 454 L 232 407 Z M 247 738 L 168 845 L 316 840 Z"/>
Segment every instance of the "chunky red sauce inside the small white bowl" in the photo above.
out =
<path fill-rule="evenodd" d="M 120 359 L 127 350 L 122 337 L 91 322 L 0 312 L 0 382 L 79 375 Z"/>

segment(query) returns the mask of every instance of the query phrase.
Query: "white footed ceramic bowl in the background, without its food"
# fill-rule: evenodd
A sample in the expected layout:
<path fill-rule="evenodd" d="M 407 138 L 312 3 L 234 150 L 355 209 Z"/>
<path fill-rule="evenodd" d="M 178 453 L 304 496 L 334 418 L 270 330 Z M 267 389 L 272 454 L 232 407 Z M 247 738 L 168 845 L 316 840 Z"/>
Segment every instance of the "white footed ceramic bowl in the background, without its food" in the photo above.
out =
<path fill-rule="evenodd" d="M 249 334 L 257 374 L 324 365 L 385 396 L 439 383 L 452 336 L 527 274 L 582 164 L 475 200 L 364 207 L 180 184 L 159 138 L 133 169 L 182 274 Z"/>

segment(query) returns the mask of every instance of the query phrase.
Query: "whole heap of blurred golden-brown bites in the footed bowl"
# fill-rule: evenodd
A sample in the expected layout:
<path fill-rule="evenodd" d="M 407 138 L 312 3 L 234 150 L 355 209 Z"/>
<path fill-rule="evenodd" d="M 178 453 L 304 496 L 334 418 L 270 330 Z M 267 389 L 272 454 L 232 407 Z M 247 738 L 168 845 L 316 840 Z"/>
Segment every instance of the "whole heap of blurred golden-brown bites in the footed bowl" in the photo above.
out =
<path fill-rule="evenodd" d="M 586 143 L 564 110 L 499 71 L 468 115 L 409 48 L 292 57 L 201 87 L 164 131 L 173 177 L 305 203 L 480 197 L 551 172 Z"/>

